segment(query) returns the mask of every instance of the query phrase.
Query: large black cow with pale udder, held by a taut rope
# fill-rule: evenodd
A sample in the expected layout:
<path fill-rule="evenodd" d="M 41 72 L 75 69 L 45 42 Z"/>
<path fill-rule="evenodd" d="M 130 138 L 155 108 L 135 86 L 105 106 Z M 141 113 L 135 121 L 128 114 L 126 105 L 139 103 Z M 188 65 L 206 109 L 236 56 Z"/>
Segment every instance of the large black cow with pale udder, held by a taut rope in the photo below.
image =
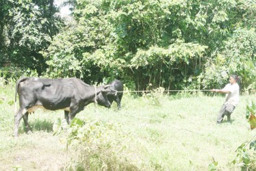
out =
<path fill-rule="evenodd" d="M 63 109 L 68 124 L 86 105 L 93 103 L 97 94 L 102 95 L 102 105 L 110 107 L 107 100 L 107 86 L 90 86 L 81 79 L 40 79 L 25 77 L 16 82 L 16 96 L 18 93 L 20 108 L 15 113 L 14 136 L 18 136 L 18 124 L 23 118 L 29 131 L 28 114 L 38 108 L 57 110 Z M 16 107 L 15 107 L 16 108 Z"/>

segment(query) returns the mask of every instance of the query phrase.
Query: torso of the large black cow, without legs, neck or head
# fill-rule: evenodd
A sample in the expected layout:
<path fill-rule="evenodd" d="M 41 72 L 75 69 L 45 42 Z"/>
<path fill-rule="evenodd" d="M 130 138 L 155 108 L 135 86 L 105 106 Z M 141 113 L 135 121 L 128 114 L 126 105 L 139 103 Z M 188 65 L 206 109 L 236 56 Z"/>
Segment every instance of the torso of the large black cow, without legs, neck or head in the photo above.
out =
<path fill-rule="evenodd" d="M 62 109 L 68 107 L 72 99 L 77 98 L 79 101 L 77 91 L 81 93 L 81 87 L 81 82 L 76 78 L 27 78 L 18 86 L 20 106 L 28 108 L 39 105 L 46 109 Z"/>

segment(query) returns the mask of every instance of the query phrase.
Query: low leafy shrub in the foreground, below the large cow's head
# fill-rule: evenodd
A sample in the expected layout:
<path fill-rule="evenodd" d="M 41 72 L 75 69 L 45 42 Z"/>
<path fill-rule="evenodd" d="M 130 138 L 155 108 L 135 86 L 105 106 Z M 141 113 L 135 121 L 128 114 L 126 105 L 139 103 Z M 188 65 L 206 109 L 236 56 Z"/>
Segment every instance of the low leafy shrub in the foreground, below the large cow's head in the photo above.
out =
<path fill-rule="evenodd" d="M 120 124 L 74 118 L 68 135 L 68 146 L 75 148 L 77 159 L 66 166 L 69 170 L 138 170 L 133 166 L 131 137 Z M 132 157 L 129 157 L 132 155 Z"/>

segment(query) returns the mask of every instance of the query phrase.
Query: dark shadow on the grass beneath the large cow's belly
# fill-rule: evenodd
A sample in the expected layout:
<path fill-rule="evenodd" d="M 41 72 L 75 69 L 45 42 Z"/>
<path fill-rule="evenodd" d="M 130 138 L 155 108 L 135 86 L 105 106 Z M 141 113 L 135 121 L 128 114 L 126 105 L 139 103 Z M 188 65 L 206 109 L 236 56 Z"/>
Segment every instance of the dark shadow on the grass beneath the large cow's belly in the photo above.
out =
<path fill-rule="evenodd" d="M 53 131 L 53 122 L 49 120 L 35 120 L 34 122 L 29 122 L 29 126 L 32 131 L 46 131 L 47 133 Z M 23 124 L 23 131 L 26 131 L 25 124 Z"/>

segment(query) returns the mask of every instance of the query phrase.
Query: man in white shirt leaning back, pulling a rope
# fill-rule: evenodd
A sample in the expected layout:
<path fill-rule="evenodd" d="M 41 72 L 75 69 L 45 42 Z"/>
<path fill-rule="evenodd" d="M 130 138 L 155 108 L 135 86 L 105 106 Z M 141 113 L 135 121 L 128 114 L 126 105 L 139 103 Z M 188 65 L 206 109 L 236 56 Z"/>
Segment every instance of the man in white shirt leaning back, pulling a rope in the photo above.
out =
<path fill-rule="evenodd" d="M 221 124 L 222 120 L 225 115 L 227 115 L 227 122 L 230 122 L 231 114 L 235 107 L 238 105 L 239 102 L 239 86 L 238 82 L 240 78 L 237 75 L 231 75 L 229 77 L 229 83 L 225 86 L 225 88 L 219 89 L 212 89 L 212 92 L 218 93 L 225 93 L 226 94 L 226 101 L 220 108 L 217 123 Z"/>

